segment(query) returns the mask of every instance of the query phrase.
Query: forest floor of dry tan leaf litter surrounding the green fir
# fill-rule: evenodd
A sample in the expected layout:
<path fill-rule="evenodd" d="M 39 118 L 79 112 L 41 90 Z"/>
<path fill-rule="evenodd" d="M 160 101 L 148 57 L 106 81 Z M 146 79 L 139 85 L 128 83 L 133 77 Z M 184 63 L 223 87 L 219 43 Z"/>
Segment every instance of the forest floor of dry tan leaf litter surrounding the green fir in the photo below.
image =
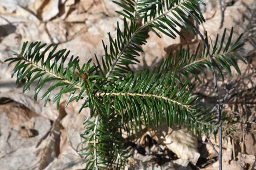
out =
<path fill-rule="evenodd" d="M 247 64 L 238 61 L 241 75 L 232 68 L 232 77 L 218 80 L 223 111 L 238 120 L 234 131 L 223 140 L 224 170 L 256 169 L 256 0 L 223 0 L 224 22 L 220 26 L 221 11 L 218 0 L 205 0 L 200 6 L 206 22 L 199 26 L 209 39 L 234 27 L 234 39 L 243 35 L 245 43 L 239 54 Z M 34 101 L 31 91 L 22 93 L 22 84 L 11 78 L 10 67 L 4 63 L 12 51 L 20 51 L 23 42 L 41 41 L 68 49 L 86 62 L 94 54 L 101 56 L 101 40 L 108 42 L 108 32 L 114 35 L 121 9 L 111 0 L 0 0 L 0 170 L 83 170 L 80 148 L 82 122 L 89 110 L 78 114 L 78 104 L 71 102 L 65 108 L 64 96 L 60 109 L 50 102 Z M 141 62 L 134 70 L 152 68 L 165 59 L 169 51 L 182 45 L 195 50 L 200 40 L 187 35 L 184 41 L 163 35 L 162 39 L 149 33 L 148 43 L 142 48 Z M 206 106 L 216 105 L 212 75 L 200 75 L 194 93 L 201 94 Z M 47 87 L 44 87 L 45 89 Z M 43 90 L 42 90 L 43 91 Z M 61 117 L 62 119 L 57 119 Z M 184 129 L 158 129 L 165 132 L 170 144 L 158 142 L 155 131 L 144 129 L 141 135 L 128 141 L 127 170 L 218 170 L 217 155 L 206 136 L 192 136 Z M 209 136 L 217 150 L 218 140 Z M 218 139 L 218 135 L 217 135 Z"/>

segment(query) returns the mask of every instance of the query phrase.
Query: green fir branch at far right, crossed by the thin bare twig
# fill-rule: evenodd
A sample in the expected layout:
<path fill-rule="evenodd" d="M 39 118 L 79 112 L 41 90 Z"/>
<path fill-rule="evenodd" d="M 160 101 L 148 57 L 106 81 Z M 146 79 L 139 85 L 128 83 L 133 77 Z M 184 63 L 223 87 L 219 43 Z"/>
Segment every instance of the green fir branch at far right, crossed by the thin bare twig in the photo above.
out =
<path fill-rule="evenodd" d="M 222 47 L 224 44 L 223 41 L 225 39 L 226 29 L 224 30 L 224 33 L 221 37 L 220 44 L 218 42 L 219 34 L 217 34 L 215 44 L 212 44 L 212 47 L 208 45 L 208 48 L 206 48 L 204 45 L 203 49 L 199 50 L 201 46 L 201 44 L 199 43 L 196 51 L 192 55 L 190 55 L 189 46 L 186 50 L 181 48 L 180 50 L 176 51 L 174 55 L 172 55 L 172 52 L 170 52 L 165 62 L 162 64 L 163 66 L 161 70 L 163 72 L 166 72 L 165 70 L 175 67 L 177 68 L 177 73 L 182 74 L 183 76 L 187 75 L 187 73 L 192 74 L 192 76 L 194 76 L 199 81 L 201 80 L 197 75 L 197 72 L 202 72 L 205 74 L 203 68 L 215 68 L 219 72 L 222 80 L 224 80 L 222 69 L 225 69 L 229 73 L 229 76 L 232 76 L 230 69 L 231 66 L 236 69 L 238 74 L 241 74 L 241 71 L 235 59 L 239 59 L 244 63 L 246 63 L 246 61 L 242 59 L 239 55 L 237 55 L 235 51 L 243 45 L 243 43 L 240 42 L 242 35 L 240 35 L 235 43 L 231 46 L 230 41 L 232 38 L 232 30 L 233 28 L 231 29 L 231 32 L 229 34 L 229 41 L 225 45 L 224 50 L 222 50 Z M 205 41 L 207 41 L 207 37 L 205 38 Z M 208 44 L 208 42 L 206 43 Z M 212 56 L 213 62 L 210 62 L 209 54 Z M 178 63 L 177 58 L 179 59 Z"/>

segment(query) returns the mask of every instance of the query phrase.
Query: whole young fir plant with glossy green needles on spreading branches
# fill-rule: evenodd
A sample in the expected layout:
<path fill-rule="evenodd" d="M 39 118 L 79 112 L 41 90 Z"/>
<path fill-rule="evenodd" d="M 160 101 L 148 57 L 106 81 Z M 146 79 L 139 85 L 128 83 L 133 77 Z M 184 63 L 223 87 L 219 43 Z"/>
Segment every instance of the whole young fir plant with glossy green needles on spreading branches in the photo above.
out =
<path fill-rule="evenodd" d="M 16 64 L 12 76 L 17 74 L 17 84 L 26 79 L 23 92 L 37 82 L 35 100 L 41 88 L 52 83 L 41 97 L 45 99 L 45 105 L 51 92 L 58 88 L 52 101 L 56 102 L 57 108 L 64 93 L 70 93 L 66 106 L 74 100 L 84 100 L 80 111 L 90 108 L 91 117 L 84 121 L 85 132 L 81 134 L 86 147 L 79 151 L 84 155 L 86 170 L 112 166 L 123 169 L 127 156 L 123 153 L 122 133 L 130 135 L 142 125 L 156 128 L 164 123 L 168 127 L 185 124 L 194 134 L 216 133 L 217 115 L 206 113 L 207 108 L 197 105 L 198 97 L 191 95 L 194 85 L 190 78 L 194 76 L 201 81 L 198 73 L 204 73 L 205 68 L 215 68 L 224 80 L 223 69 L 230 76 L 230 67 L 240 73 L 237 59 L 244 61 L 236 54 L 242 45 L 241 36 L 231 44 L 233 29 L 228 38 L 225 29 L 220 41 L 218 35 L 210 45 L 206 36 L 207 46 L 199 44 L 193 54 L 189 47 L 187 50 L 181 48 L 174 55 L 170 52 L 158 67 L 134 74 L 129 66 L 139 62 L 137 57 L 142 52 L 141 45 L 146 44 L 148 32 L 159 37 L 157 32 L 161 32 L 171 38 L 177 35 L 185 38 L 179 30 L 196 34 L 196 27 L 188 18 L 192 17 L 197 24 L 204 22 L 198 8 L 198 4 L 204 3 L 201 0 L 113 2 L 123 8 L 117 13 L 124 17 L 124 30 L 120 30 L 117 23 L 117 38 L 113 39 L 109 34 L 109 42 L 102 41 L 105 54 L 102 58 L 95 56 L 95 63 L 90 59 L 81 65 L 78 57 L 68 57 L 70 51 L 56 51 L 57 46 L 46 46 L 41 42 L 29 45 L 25 42 L 21 52 L 14 53 L 16 57 L 6 60 Z M 207 58 L 209 53 L 213 57 L 212 63 Z M 225 114 L 223 120 L 231 122 Z"/>

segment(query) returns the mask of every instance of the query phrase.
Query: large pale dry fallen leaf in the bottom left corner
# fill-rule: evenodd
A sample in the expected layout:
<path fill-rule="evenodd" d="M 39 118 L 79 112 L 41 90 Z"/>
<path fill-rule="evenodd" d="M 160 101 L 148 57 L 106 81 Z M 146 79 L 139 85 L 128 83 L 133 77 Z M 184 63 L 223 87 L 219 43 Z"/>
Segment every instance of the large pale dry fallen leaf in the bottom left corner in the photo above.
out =
<path fill-rule="evenodd" d="M 50 128 L 50 121 L 41 116 L 33 117 L 30 121 L 34 122 L 34 127 L 29 131 L 26 129 L 23 133 L 10 125 L 8 114 L 9 112 L 0 111 L 0 170 L 35 169 L 40 160 L 35 155 L 39 148 L 35 146 Z M 44 144 L 41 146 L 43 147 Z"/>

